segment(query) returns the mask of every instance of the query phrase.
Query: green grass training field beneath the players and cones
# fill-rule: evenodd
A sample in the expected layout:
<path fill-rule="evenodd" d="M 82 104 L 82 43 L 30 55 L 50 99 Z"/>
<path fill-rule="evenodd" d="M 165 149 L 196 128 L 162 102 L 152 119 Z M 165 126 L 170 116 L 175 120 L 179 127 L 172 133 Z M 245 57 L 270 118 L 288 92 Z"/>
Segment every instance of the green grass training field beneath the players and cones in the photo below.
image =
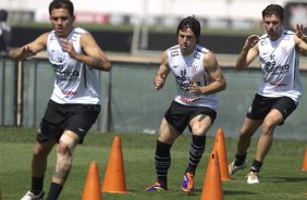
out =
<path fill-rule="evenodd" d="M 210 130 L 214 135 L 216 130 Z M 16 200 L 27 191 L 30 183 L 30 153 L 35 140 L 35 129 L 0 127 L 0 190 L 2 200 Z M 186 196 L 181 191 L 183 173 L 187 164 L 191 137 L 184 135 L 174 143 L 172 165 L 169 171 L 169 191 L 145 192 L 146 187 L 156 180 L 154 153 L 157 135 L 145 134 L 101 134 L 90 132 L 83 146 L 74 153 L 73 168 L 61 193 L 61 200 L 79 200 L 88 166 L 91 161 L 98 163 L 100 183 L 103 182 L 108 159 L 114 136 L 120 136 L 125 168 L 125 184 L 130 193 L 102 192 L 103 200 L 196 200 L 200 199 L 202 183 L 209 152 L 214 142 L 208 137 L 207 147 L 196 172 L 195 192 Z M 228 138 L 225 146 L 228 161 L 231 162 L 236 140 Z M 249 149 L 248 163 L 255 154 L 256 140 Z M 306 141 L 274 140 L 260 173 L 259 185 L 247 185 L 245 176 L 248 168 L 237 172 L 230 182 L 222 182 L 225 200 L 300 200 L 307 199 L 307 172 L 302 171 Z M 49 157 L 45 178 L 45 190 L 48 191 L 53 172 L 56 153 Z"/>

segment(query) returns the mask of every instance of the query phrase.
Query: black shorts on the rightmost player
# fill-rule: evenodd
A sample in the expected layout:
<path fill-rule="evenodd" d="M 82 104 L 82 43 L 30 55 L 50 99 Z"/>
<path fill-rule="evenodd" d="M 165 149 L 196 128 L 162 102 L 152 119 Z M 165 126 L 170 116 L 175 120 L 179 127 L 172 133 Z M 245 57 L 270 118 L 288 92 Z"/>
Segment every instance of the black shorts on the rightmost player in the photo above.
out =
<path fill-rule="evenodd" d="M 253 120 L 265 120 L 267 114 L 277 109 L 281 112 L 283 121 L 296 109 L 297 104 L 290 97 L 263 97 L 258 93 L 255 95 L 253 104 L 249 107 L 246 116 Z M 283 122 L 280 124 L 282 125 Z"/>

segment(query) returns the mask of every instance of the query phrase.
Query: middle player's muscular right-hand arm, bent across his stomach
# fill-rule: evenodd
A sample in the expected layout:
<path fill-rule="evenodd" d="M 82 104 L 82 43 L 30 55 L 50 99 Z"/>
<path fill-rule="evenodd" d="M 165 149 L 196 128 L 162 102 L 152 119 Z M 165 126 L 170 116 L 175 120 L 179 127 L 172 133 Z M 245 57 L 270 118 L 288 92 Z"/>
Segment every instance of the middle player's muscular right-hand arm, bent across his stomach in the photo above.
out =
<path fill-rule="evenodd" d="M 208 72 L 212 82 L 209 85 L 202 87 L 199 87 L 196 85 L 196 83 L 192 82 L 188 87 L 189 92 L 195 95 L 210 95 L 224 90 L 226 88 L 226 80 L 223 76 L 216 55 L 211 51 L 209 51 L 205 55 L 204 62 L 205 71 Z"/>

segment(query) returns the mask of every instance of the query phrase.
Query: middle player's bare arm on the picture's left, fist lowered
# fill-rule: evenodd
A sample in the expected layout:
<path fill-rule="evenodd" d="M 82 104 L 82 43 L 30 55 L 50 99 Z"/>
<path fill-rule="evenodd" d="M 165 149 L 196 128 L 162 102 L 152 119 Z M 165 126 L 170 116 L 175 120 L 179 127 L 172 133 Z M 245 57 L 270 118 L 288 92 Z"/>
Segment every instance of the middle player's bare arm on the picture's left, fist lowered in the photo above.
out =
<path fill-rule="evenodd" d="M 168 62 L 168 53 L 167 51 L 164 51 L 161 57 L 160 67 L 154 78 L 154 85 L 157 90 L 161 89 L 164 86 L 169 73 L 170 73 L 170 67 Z"/>

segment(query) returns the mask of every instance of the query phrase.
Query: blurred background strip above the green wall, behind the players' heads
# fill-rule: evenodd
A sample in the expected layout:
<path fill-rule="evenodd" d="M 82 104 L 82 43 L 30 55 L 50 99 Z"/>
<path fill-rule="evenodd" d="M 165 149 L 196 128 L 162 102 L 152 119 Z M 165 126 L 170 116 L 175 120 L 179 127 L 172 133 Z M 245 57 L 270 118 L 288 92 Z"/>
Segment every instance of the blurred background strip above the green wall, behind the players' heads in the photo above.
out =
<path fill-rule="evenodd" d="M 13 39 L 10 42 L 12 47 L 19 47 L 50 28 L 49 2 L 1 0 L 0 9 L 9 12 L 8 24 L 12 26 Z M 286 27 L 292 28 L 297 23 L 307 22 L 307 2 L 303 0 L 73 0 L 73 2 L 76 23 L 95 29 L 94 35 L 98 35 L 96 38 L 101 46 L 103 45 L 103 49 L 119 52 L 160 51 L 168 48 L 175 42 L 173 36 L 180 20 L 188 15 L 195 15 L 201 22 L 202 33 L 207 36 L 204 42 L 206 40 L 207 47 L 218 53 L 236 53 L 241 48 L 237 47 L 238 36 L 261 34 L 261 11 L 270 3 L 285 8 Z M 228 37 L 216 38 L 217 35 Z"/>

